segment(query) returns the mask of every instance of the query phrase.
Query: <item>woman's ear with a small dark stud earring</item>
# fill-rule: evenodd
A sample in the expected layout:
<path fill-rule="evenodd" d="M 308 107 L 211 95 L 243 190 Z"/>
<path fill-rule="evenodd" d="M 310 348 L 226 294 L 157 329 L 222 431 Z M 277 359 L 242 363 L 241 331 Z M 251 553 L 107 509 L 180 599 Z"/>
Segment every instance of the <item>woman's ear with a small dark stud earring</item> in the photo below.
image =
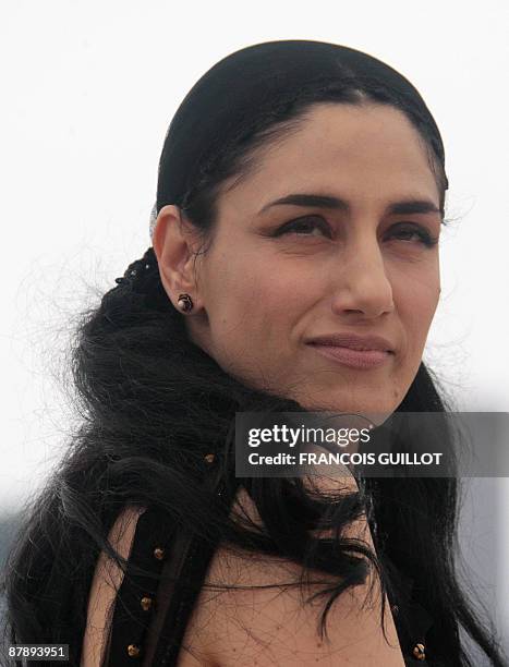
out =
<path fill-rule="evenodd" d="M 194 254 L 197 234 L 182 219 L 178 206 L 163 206 L 154 228 L 153 246 L 159 265 L 162 286 L 177 307 L 179 294 L 190 294 L 197 304 Z"/>

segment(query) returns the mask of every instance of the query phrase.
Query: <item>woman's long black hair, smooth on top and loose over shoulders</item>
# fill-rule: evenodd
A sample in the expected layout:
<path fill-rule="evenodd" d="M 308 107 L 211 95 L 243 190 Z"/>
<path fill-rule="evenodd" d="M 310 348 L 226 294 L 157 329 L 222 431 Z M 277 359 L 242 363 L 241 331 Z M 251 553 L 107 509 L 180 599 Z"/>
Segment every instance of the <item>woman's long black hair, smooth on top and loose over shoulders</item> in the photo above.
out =
<path fill-rule="evenodd" d="M 292 90 L 277 77 L 279 61 L 275 53 L 280 47 L 272 44 L 283 45 L 284 82 L 291 78 L 288 63 L 295 68 L 292 72 L 299 86 Z M 245 178 L 259 151 L 299 129 L 306 112 L 319 102 L 383 104 L 405 113 L 426 147 L 444 208 L 447 177 L 441 140 L 419 94 L 402 93 L 401 75 L 396 77 L 399 87 L 393 81 L 387 83 L 387 65 L 381 65 L 386 78 L 374 77 L 373 72 L 366 75 L 366 63 L 375 63 L 368 56 L 341 61 L 339 56 L 359 52 L 336 45 L 326 45 L 338 57 L 334 75 L 326 77 L 320 70 L 319 77 L 310 77 L 304 85 L 293 56 L 302 53 L 308 66 L 310 53 L 322 53 L 319 45 L 269 43 L 241 51 L 242 62 L 247 64 L 259 54 L 269 54 L 279 87 L 270 89 L 268 75 L 264 75 L 264 104 L 252 108 L 253 99 L 246 94 L 250 113 L 239 113 L 235 123 L 228 125 L 229 141 L 214 136 L 207 151 L 205 140 L 196 140 L 196 133 L 190 136 L 183 119 L 189 118 L 190 108 L 195 116 L 204 111 L 196 101 L 204 89 L 210 98 L 208 104 L 220 106 L 214 100 L 221 98 L 210 90 L 210 81 L 219 78 L 208 74 L 193 88 L 166 137 L 156 211 L 165 204 L 178 204 L 204 240 L 209 239 L 221 184 L 230 177 Z M 221 66 L 231 63 L 230 59 Z M 255 86 L 253 71 L 250 74 Z M 221 104 L 221 113 L 231 113 L 228 105 L 235 108 L 231 99 Z M 203 118 L 203 122 L 208 119 Z M 196 155 L 190 156 L 189 147 L 195 144 L 198 160 Z M 180 171 L 175 158 L 179 150 L 181 166 L 182 160 L 189 161 Z M 46 489 L 26 510 L 5 569 L 7 627 L 12 642 L 68 643 L 71 663 L 78 664 L 98 555 L 102 549 L 124 562 L 107 536 L 125 504 L 135 502 L 159 508 L 205 543 L 220 541 L 326 572 L 330 585 L 323 629 L 330 605 L 342 592 L 365 581 L 369 565 L 380 573 L 381 585 L 389 592 L 391 575 L 399 571 L 414 582 L 420 602 L 433 616 L 429 653 L 437 658 L 431 664 L 473 665 L 460 642 L 460 627 L 493 665 L 504 664 L 493 634 L 458 583 L 458 482 L 452 476 L 364 480 L 359 493 L 337 497 L 313 494 L 300 478 L 233 481 L 235 412 L 303 408 L 243 385 L 190 340 L 182 314 L 172 306 L 161 284 L 152 247 L 130 265 L 96 307 L 83 313 L 71 359 L 82 425 Z M 437 383 L 424 363 L 398 410 L 446 410 Z M 209 452 L 216 454 L 215 478 L 227 486 L 241 483 L 245 487 L 263 530 L 225 511 L 225 498 L 231 496 L 218 495 L 208 484 L 210 468 L 204 457 Z M 343 537 L 346 526 L 363 512 L 367 512 L 373 527 L 376 554 L 362 542 Z M 335 537 L 311 538 L 308 530 L 316 525 L 334 529 Z"/>

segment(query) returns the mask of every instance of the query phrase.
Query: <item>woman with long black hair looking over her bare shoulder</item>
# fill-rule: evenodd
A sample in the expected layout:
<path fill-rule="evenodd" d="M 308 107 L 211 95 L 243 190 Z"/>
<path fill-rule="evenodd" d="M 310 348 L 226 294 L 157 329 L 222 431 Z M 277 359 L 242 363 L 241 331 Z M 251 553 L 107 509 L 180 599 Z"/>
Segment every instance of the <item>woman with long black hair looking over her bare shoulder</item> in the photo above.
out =
<path fill-rule="evenodd" d="M 447 186 L 420 94 L 365 53 L 266 43 L 195 84 L 152 245 L 77 332 L 86 419 L 11 557 L 12 642 L 450 667 L 462 627 L 504 664 L 456 579 L 453 477 L 234 475 L 237 412 L 445 410 L 422 353 Z"/>

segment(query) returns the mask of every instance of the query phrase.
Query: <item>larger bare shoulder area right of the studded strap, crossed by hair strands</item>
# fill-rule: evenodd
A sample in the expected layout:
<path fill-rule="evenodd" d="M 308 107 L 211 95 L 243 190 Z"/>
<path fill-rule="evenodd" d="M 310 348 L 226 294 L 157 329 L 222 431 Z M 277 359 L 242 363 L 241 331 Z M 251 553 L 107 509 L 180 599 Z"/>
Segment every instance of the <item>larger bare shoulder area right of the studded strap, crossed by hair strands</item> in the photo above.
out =
<path fill-rule="evenodd" d="M 238 501 L 259 521 L 245 492 L 240 492 Z M 359 521 L 350 531 L 352 536 L 373 545 L 367 522 Z M 318 622 L 327 598 L 305 604 L 319 584 L 310 584 L 304 590 L 289 585 L 300 574 L 300 566 L 281 558 L 218 549 L 206 581 L 211 587 L 203 589 L 195 616 L 207 664 L 217 667 L 239 664 L 304 667 L 315 663 L 323 667 L 343 664 L 404 667 L 389 610 L 385 628 L 389 643 L 384 638 L 376 580 L 371 603 L 366 604 L 371 581 L 343 593 L 335 602 L 327 617 L 328 640 L 322 640 Z M 214 584 L 218 589 L 214 590 Z M 222 590 L 222 584 L 241 587 Z"/>

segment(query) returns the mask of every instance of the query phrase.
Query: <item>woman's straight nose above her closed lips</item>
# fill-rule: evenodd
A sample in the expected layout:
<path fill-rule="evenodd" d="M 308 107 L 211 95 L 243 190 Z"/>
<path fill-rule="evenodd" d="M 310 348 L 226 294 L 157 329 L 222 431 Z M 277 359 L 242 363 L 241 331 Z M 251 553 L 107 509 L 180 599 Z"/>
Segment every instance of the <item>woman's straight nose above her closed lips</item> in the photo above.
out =
<path fill-rule="evenodd" d="M 335 314 L 372 319 L 395 310 L 392 284 L 376 239 L 359 239 L 344 248 L 339 262 Z"/>

